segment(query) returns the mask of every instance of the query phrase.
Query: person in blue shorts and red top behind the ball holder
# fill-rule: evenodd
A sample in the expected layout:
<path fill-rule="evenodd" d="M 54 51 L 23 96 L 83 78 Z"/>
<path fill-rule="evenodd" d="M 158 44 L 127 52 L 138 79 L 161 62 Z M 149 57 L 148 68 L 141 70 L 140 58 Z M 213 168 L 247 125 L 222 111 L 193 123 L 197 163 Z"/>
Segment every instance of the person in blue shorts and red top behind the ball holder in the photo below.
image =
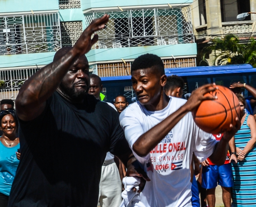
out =
<path fill-rule="evenodd" d="M 223 134 L 213 135 L 220 140 Z M 230 162 L 237 163 L 236 147 L 234 139 L 229 141 L 231 153 L 227 154 L 223 165 L 215 165 L 209 158 L 203 161 L 202 188 L 206 188 L 206 199 L 209 207 L 215 206 L 215 189 L 217 183 L 222 188 L 222 200 L 225 207 L 231 207 L 231 187 L 233 186 L 232 168 Z"/>

